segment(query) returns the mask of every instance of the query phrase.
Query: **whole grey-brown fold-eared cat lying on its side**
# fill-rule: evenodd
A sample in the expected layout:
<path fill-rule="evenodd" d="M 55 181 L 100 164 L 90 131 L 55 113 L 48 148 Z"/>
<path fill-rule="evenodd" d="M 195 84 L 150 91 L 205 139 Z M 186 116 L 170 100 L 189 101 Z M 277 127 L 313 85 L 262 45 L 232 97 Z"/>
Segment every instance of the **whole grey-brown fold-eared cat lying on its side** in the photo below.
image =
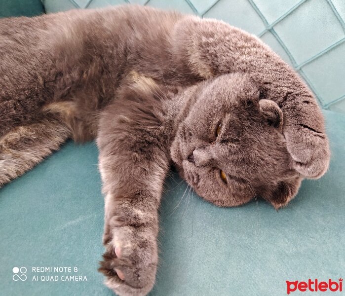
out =
<path fill-rule="evenodd" d="M 168 168 L 203 198 L 285 206 L 330 151 L 316 100 L 260 39 L 137 5 L 0 19 L 0 185 L 68 138 L 96 139 L 100 271 L 116 294 L 154 285 Z"/>

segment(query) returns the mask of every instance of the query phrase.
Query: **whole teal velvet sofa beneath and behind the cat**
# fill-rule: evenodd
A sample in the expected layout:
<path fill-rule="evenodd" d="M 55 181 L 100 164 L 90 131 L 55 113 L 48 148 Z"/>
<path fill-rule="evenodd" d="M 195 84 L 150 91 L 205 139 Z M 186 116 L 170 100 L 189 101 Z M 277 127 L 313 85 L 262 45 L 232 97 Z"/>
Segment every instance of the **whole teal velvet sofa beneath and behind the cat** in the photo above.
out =
<path fill-rule="evenodd" d="M 44 0 L 43 6 L 38 0 L 0 0 L 0 16 L 123 2 Z M 150 295 L 279 296 L 287 295 L 286 281 L 345 277 L 344 1 L 131 2 L 220 18 L 262 37 L 314 91 L 332 150 L 328 173 L 305 180 L 297 197 L 278 212 L 261 200 L 215 207 L 172 171 L 160 209 L 160 261 Z M 69 142 L 0 189 L 0 295 L 113 295 L 97 272 L 104 250 L 97 154 L 94 143 Z M 52 272 L 38 272 L 41 267 Z M 71 272 L 54 267 L 71 267 Z M 66 281 L 66 275 L 83 281 Z"/>

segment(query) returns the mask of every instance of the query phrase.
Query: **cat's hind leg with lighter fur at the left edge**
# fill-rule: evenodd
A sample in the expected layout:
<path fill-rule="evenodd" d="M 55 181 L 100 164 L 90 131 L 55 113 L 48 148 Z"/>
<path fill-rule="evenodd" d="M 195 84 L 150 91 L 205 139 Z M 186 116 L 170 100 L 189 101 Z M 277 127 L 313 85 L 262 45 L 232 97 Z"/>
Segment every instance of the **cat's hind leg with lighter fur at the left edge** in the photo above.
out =
<path fill-rule="evenodd" d="M 54 116 L 17 126 L 0 138 L 0 187 L 32 169 L 70 136 Z"/>

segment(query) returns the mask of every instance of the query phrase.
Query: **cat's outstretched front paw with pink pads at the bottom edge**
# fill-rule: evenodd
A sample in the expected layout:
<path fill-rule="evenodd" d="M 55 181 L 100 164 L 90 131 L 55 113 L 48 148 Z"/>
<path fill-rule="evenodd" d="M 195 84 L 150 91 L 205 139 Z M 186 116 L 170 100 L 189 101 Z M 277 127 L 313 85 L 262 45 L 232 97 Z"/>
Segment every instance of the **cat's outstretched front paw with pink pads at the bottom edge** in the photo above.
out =
<path fill-rule="evenodd" d="M 151 291 L 158 261 L 156 232 L 155 227 L 128 223 L 117 216 L 109 221 L 104 237 L 107 249 L 99 271 L 117 295 L 142 296 Z"/>

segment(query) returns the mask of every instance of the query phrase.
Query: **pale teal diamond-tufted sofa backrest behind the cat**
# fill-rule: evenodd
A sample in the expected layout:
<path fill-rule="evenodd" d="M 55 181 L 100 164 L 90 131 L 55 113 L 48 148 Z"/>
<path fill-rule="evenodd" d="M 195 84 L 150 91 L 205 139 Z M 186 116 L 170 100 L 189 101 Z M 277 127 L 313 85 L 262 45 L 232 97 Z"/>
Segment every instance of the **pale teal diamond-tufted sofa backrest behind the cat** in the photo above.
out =
<path fill-rule="evenodd" d="M 47 12 L 138 3 L 222 19 L 261 37 L 324 109 L 345 112 L 344 0 L 43 0 Z"/>

